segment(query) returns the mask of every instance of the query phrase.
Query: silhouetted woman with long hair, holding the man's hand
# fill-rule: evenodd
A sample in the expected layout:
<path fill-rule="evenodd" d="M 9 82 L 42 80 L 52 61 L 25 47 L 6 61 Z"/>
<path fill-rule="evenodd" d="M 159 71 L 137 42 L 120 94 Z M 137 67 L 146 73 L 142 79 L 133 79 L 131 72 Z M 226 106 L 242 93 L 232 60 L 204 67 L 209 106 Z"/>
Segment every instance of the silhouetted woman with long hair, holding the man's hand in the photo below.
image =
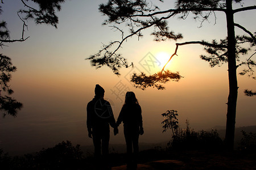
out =
<path fill-rule="evenodd" d="M 123 122 L 123 133 L 127 149 L 127 167 L 137 167 L 137 155 L 139 152 L 139 134 L 143 134 L 141 106 L 134 92 L 127 92 L 125 104 L 119 113 L 117 127 Z M 134 156 L 132 155 L 132 146 Z M 134 158 L 134 160 L 133 160 Z"/>

